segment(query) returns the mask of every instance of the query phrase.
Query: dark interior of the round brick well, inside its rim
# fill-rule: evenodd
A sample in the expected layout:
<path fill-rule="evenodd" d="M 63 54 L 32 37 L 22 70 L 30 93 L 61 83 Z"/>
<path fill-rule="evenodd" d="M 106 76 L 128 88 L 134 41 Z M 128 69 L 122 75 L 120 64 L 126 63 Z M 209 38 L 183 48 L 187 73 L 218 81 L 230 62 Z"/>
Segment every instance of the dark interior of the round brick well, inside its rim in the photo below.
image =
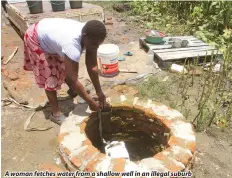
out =
<path fill-rule="evenodd" d="M 111 108 L 102 112 L 101 120 L 103 138 L 110 142 L 123 141 L 131 161 L 153 157 L 167 147 L 169 128 L 142 109 Z M 85 132 L 92 145 L 105 153 L 96 113 L 90 116 Z"/>

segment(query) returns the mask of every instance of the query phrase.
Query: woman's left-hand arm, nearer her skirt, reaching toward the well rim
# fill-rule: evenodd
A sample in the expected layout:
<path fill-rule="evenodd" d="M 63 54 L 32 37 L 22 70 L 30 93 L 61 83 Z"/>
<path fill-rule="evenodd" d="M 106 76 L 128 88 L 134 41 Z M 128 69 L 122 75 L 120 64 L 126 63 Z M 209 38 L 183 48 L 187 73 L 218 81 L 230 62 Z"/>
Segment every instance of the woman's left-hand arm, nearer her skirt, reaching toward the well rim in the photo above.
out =
<path fill-rule="evenodd" d="M 71 84 L 72 90 L 77 91 L 81 98 L 83 98 L 90 106 L 90 109 L 97 110 L 98 105 L 93 99 L 87 94 L 83 85 L 78 80 L 79 63 L 71 60 L 65 56 L 65 73 L 66 80 Z"/>

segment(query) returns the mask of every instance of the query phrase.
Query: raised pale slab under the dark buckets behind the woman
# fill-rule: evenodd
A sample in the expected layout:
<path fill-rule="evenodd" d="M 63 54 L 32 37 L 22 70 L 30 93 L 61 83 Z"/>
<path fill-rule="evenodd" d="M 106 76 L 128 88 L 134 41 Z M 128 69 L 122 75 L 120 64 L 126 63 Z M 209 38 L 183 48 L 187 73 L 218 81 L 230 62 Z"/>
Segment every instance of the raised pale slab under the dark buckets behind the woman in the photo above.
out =
<path fill-rule="evenodd" d="M 103 8 L 83 3 L 80 9 L 70 9 L 69 2 L 65 3 L 65 11 L 53 12 L 49 1 L 43 1 L 43 13 L 30 14 L 26 2 L 8 4 L 6 6 L 10 21 L 24 34 L 27 28 L 43 18 L 69 18 L 80 22 L 88 20 L 104 20 Z"/>

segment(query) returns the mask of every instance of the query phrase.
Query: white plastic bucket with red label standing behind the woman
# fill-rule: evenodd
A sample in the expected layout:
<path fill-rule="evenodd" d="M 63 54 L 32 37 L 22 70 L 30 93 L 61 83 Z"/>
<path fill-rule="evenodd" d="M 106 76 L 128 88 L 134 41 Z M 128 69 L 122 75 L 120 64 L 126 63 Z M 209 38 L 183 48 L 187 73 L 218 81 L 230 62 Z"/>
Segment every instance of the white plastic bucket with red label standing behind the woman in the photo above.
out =
<path fill-rule="evenodd" d="M 117 45 L 103 44 L 98 48 L 97 55 L 102 75 L 112 77 L 119 73 L 119 48 Z"/>

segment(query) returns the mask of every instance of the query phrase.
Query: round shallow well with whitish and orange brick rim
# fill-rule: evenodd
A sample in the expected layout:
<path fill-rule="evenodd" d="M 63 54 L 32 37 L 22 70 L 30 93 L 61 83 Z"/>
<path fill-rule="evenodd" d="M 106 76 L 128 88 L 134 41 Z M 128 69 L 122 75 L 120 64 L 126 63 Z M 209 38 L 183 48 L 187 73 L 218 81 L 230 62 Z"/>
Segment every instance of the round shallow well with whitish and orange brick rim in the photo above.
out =
<path fill-rule="evenodd" d="M 165 105 L 131 96 L 108 98 L 103 138 L 124 141 L 129 159 L 111 158 L 100 139 L 99 118 L 78 105 L 62 124 L 60 153 L 70 171 L 181 171 L 195 151 L 195 133 L 183 115 Z"/>

